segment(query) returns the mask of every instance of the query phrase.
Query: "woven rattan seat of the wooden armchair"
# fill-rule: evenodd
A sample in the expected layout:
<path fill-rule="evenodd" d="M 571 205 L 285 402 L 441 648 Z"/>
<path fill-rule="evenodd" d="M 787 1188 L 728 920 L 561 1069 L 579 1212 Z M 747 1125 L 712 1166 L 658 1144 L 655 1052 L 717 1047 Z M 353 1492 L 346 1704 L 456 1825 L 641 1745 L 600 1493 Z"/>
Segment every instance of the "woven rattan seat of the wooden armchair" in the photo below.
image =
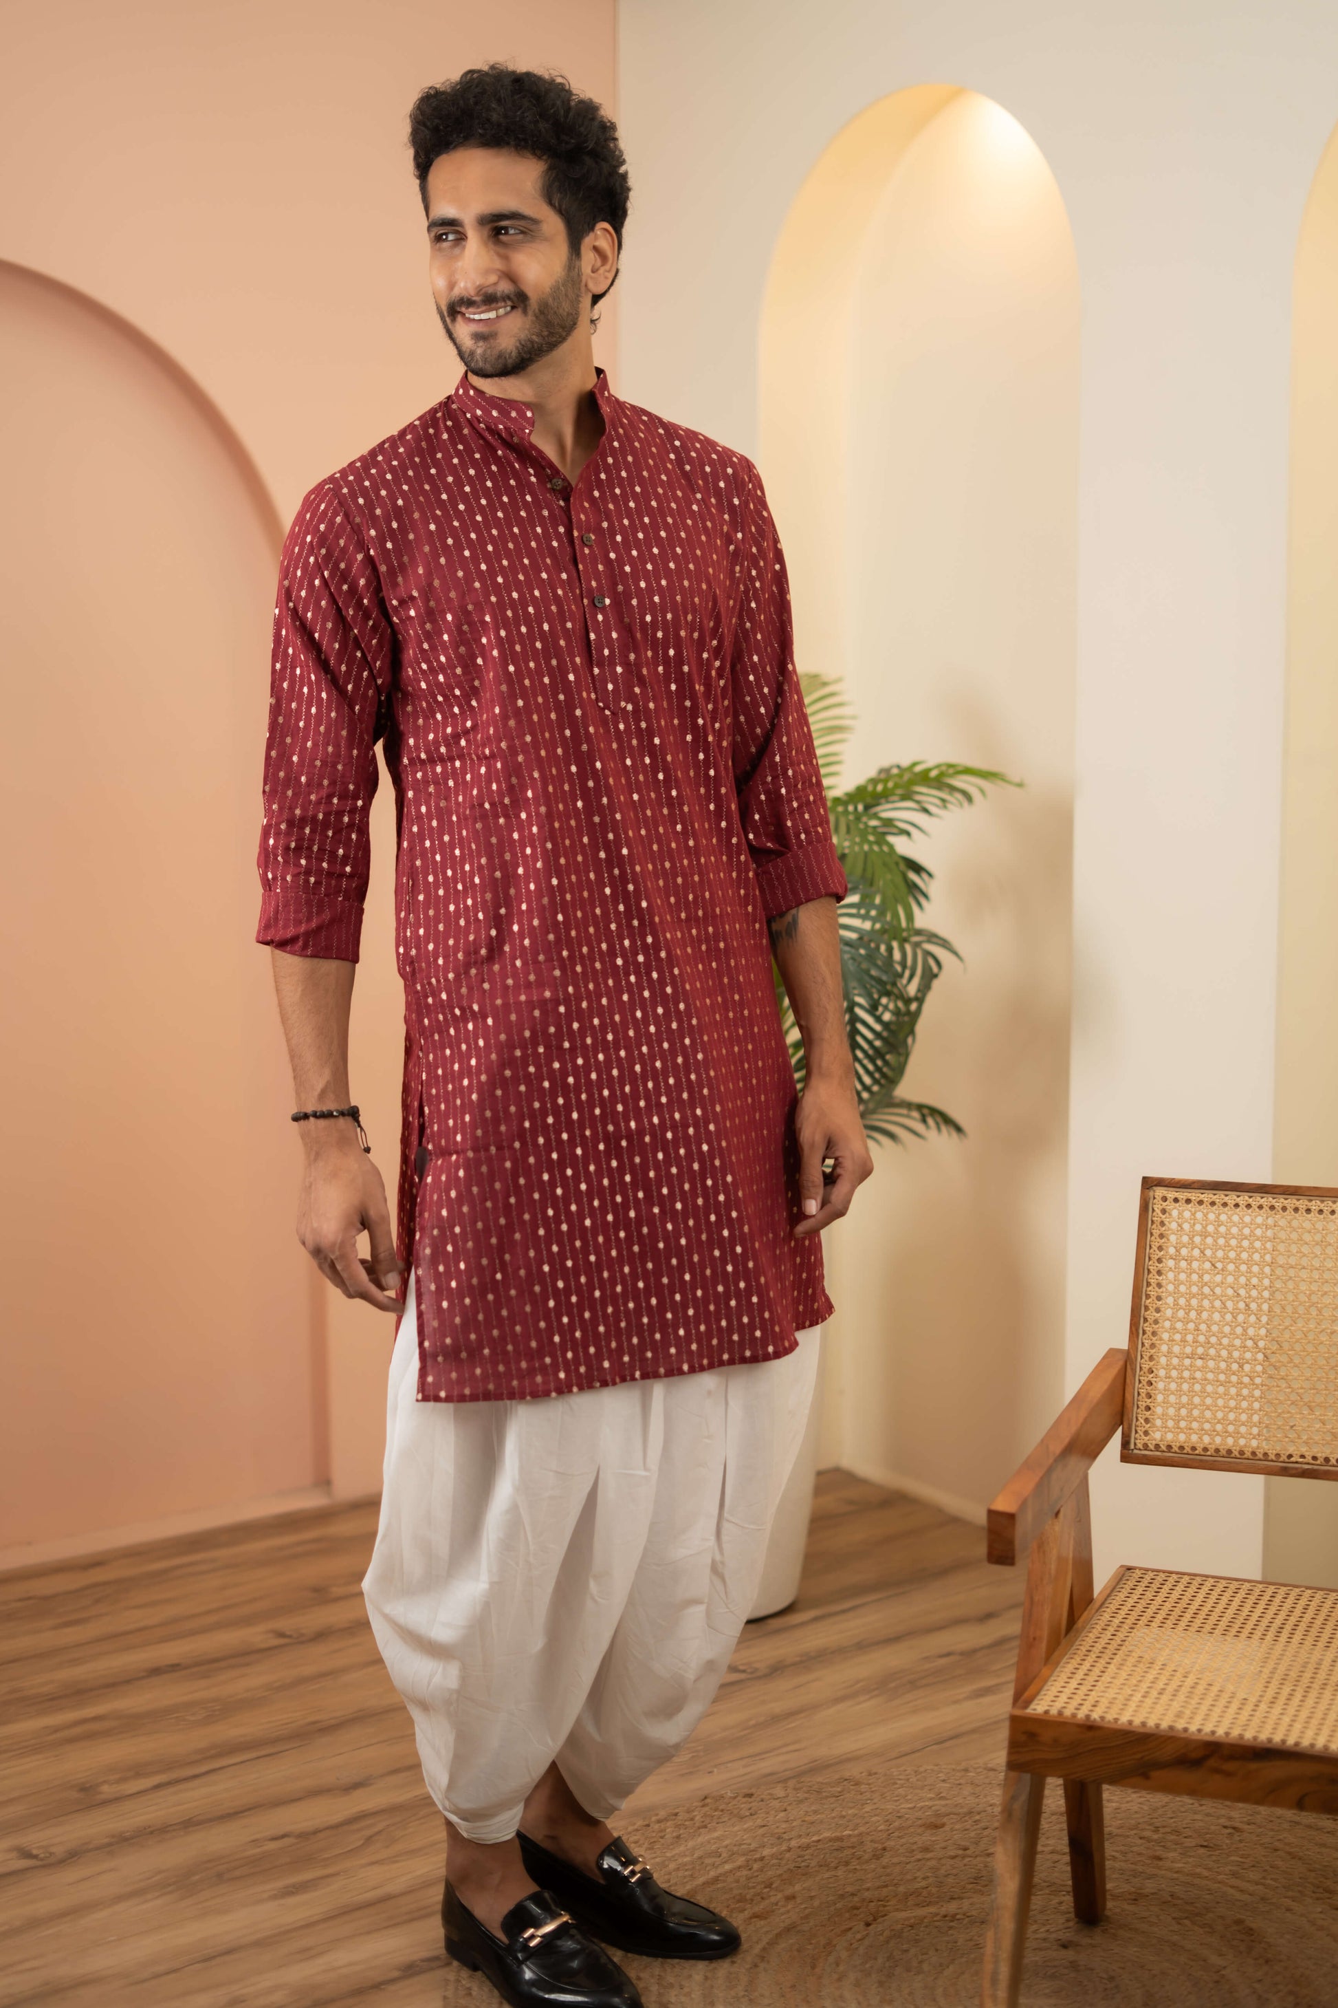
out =
<path fill-rule="evenodd" d="M 1338 1753 L 1338 1590 L 1129 1568 L 1031 1709 Z"/>

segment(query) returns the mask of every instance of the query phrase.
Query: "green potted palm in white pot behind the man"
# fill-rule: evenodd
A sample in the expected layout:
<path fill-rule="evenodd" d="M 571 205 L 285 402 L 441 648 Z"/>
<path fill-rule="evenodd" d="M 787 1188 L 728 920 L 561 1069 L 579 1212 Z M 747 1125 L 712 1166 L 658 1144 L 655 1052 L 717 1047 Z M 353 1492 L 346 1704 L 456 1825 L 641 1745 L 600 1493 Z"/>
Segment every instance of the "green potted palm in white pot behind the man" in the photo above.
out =
<path fill-rule="evenodd" d="M 923 837 L 925 823 L 935 815 L 971 807 L 995 783 L 1017 783 L 989 767 L 907 761 L 879 767 L 865 781 L 841 789 L 841 761 L 855 731 L 845 691 L 834 677 L 820 675 L 802 675 L 800 687 L 826 787 L 832 839 L 851 886 L 837 914 L 847 1034 L 865 1135 L 871 1143 L 961 1137 L 961 1124 L 945 1108 L 899 1092 L 929 992 L 943 972 L 943 960 L 957 956 L 951 942 L 921 926 L 933 871 L 901 845 Z M 774 966 L 772 976 L 794 1078 L 802 1088 L 804 1046 Z M 762 1584 L 750 1612 L 754 1618 L 772 1616 L 794 1602 L 812 1512 L 816 1448 L 814 1402 L 772 1526 Z"/>

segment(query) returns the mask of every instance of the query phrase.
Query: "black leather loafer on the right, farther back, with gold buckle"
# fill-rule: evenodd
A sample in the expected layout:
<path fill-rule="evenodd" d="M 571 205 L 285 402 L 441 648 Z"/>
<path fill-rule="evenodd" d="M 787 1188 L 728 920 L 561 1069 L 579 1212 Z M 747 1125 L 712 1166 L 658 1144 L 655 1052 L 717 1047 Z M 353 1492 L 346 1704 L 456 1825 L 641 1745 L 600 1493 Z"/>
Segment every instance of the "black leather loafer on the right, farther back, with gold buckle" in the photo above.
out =
<path fill-rule="evenodd" d="M 520 1833 L 526 1869 L 584 1926 L 592 1938 L 646 1960 L 726 1960 L 738 1952 L 728 1918 L 692 1898 L 662 1890 L 626 1841 L 610 1841 L 596 1869 L 600 1879 Z"/>

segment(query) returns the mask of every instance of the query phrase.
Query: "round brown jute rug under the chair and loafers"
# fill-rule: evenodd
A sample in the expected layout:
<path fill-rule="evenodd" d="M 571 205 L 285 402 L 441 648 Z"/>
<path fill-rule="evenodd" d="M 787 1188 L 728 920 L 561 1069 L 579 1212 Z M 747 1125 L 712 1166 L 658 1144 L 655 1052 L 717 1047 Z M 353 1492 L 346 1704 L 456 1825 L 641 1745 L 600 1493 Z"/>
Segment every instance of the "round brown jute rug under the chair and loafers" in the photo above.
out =
<path fill-rule="evenodd" d="M 662 1881 L 728 1912 L 720 1966 L 628 1960 L 646 2008 L 977 2008 L 999 1773 L 889 1771 L 626 1819 Z M 1109 1791 L 1109 1918 L 1075 1924 L 1049 1787 L 1027 2008 L 1334 2008 L 1338 1819 Z M 477 1978 L 445 2000 L 495 2000 Z"/>

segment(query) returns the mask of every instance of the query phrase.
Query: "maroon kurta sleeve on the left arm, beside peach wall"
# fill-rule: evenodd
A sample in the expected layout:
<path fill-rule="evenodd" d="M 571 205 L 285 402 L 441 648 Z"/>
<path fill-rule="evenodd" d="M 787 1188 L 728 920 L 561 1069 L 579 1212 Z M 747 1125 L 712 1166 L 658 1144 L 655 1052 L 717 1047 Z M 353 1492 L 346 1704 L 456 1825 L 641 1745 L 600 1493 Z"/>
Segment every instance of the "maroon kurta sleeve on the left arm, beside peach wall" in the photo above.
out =
<path fill-rule="evenodd" d="M 357 962 L 391 665 L 361 530 L 329 484 L 313 488 L 279 566 L 257 942 Z"/>

